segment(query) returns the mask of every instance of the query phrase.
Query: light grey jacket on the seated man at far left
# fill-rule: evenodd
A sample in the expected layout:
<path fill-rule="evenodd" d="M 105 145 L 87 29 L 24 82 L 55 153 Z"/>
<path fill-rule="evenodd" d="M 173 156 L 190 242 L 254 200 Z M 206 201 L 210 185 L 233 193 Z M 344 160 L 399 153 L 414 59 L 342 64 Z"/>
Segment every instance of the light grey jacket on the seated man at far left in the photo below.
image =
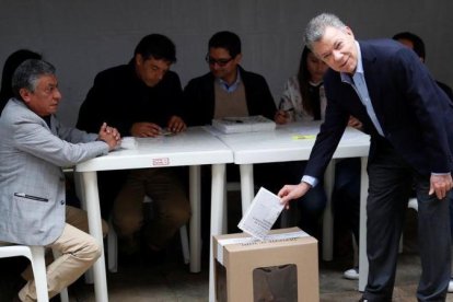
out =
<path fill-rule="evenodd" d="M 12 98 L 0 117 L 0 241 L 47 245 L 65 226 L 61 166 L 108 152 L 97 135 L 46 121 Z M 86 142 L 86 143 L 80 143 Z"/>

